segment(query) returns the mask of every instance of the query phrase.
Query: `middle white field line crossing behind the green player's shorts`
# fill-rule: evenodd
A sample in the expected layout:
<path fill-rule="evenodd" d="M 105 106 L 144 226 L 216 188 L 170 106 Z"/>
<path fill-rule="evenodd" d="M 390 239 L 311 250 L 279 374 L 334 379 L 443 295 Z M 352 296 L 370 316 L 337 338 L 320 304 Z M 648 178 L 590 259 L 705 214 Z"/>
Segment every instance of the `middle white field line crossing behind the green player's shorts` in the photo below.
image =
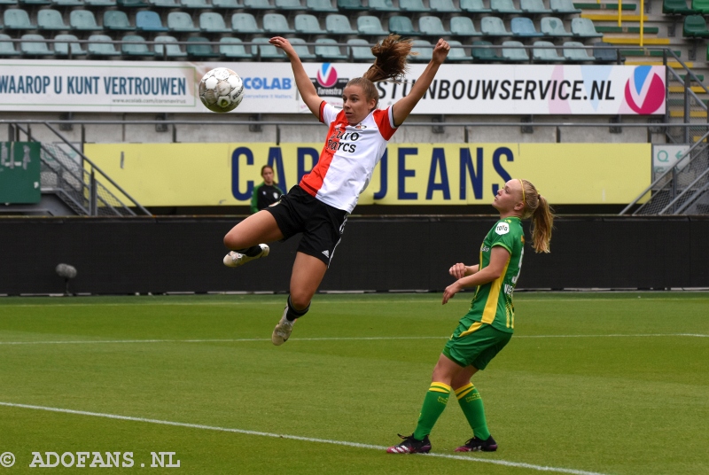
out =
<path fill-rule="evenodd" d="M 666 338 L 690 337 L 707 338 L 709 335 L 700 333 L 637 333 L 637 334 L 611 334 L 611 335 L 519 335 L 514 339 L 575 339 L 575 338 Z M 322 337 L 322 338 L 296 338 L 289 341 L 367 341 L 367 340 L 396 340 L 396 339 L 448 339 L 448 337 Z M 82 345 L 82 344 L 121 344 L 121 343 L 239 343 L 249 341 L 270 341 L 271 339 L 84 339 L 84 340 L 56 340 L 56 341 L 0 341 L 0 345 Z"/>

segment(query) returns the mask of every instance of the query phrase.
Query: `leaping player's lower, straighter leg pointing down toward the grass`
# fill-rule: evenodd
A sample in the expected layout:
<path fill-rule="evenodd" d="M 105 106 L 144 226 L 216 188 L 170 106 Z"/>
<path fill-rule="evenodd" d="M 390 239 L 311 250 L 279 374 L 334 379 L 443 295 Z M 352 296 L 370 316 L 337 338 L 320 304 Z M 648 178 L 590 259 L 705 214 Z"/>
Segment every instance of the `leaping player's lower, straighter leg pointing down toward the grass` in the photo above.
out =
<path fill-rule="evenodd" d="M 291 294 L 285 305 L 281 320 L 271 335 L 274 345 L 283 345 L 291 336 L 293 323 L 308 313 L 310 300 L 323 282 L 327 265 L 320 259 L 306 253 L 296 253 L 291 274 Z"/>

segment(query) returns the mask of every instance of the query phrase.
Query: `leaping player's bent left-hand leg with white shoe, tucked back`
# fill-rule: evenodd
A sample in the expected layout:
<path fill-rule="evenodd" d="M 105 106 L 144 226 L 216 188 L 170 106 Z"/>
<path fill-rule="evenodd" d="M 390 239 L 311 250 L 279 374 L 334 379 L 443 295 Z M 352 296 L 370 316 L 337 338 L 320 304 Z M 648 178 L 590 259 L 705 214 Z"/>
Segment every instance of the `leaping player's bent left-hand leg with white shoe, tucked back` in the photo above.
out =
<path fill-rule="evenodd" d="M 269 255 L 269 246 L 262 244 L 283 239 L 276 219 L 268 211 L 252 214 L 224 236 L 224 245 L 232 249 L 224 256 L 224 265 L 238 267 L 248 261 Z"/>

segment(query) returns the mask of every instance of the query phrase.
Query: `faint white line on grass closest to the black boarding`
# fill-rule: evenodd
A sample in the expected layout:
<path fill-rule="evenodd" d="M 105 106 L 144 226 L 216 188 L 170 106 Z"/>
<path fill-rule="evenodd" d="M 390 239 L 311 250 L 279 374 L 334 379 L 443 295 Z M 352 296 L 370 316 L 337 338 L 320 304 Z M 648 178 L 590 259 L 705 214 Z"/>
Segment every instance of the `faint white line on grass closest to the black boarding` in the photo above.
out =
<path fill-rule="evenodd" d="M 465 295 L 465 294 L 464 294 Z M 464 296 L 463 295 L 463 296 Z M 41 298 L 41 297 L 40 297 Z M 258 298 L 258 296 L 254 296 L 254 298 Z M 549 299 L 533 299 L 533 300 L 525 300 L 524 298 L 517 298 L 515 301 L 516 302 L 524 302 L 524 303 L 554 303 L 554 302 L 563 302 L 563 303 L 568 303 L 568 302 L 611 302 L 611 301 L 621 301 L 621 300 L 636 300 L 635 296 L 628 296 L 628 297 L 619 297 L 617 299 L 586 299 L 586 298 L 580 298 L 580 299 L 554 299 L 554 298 L 549 298 Z M 655 301 L 676 301 L 676 300 L 682 300 L 681 297 L 676 297 L 676 298 L 663 298 L 663 297 L 658 297 L 658 298 L 653 298 L 653 297 L 643 297 L 640 299 L 641 301 L 648 301 L 652 300 L 653 302 Z M 709 298 L 693 298 L 690 299 L 691 301 L 705 301 L 709 300 Z M 245 301 L 235 301 L 235 302 L 228 302 L 228 301 L 221 301 L 221 302 L 209 302 L 209 301 L 202 301 L 202 302 L 154 302 L 154 301 L 143 301 L 143 302 L 111 302 L 111 303 L 102 303 L 102 302 L 86 302 L 86 303 L 4 303 L 2 300 L 0 300 L 0 308 L 35 308 L 35 307 L 47 307 L 47 308 L 55 308 L 55 307 L 97 307 L 97 306 L 102 306 L 102 307 L 132 307 L 132 306 L 143 306 L 143 305 L 154 305 L 154 306 L 164 306 L 164 307 L 199 307 L 199 306 L 232 306 L 232 305 L 284 305 L 284 299 L 283 300 L 277 300 L 277 301 L 251 301 L 251 302 L 245 302 Z M 336 303 L 336 304 L 358 304 L 358 303 L 366 303 L 370 304 L 372 302 L 377 302 L 377 303 L 438 303 L 440 301 L 440 297 L 436 294 L 435 296 L 431 297 L 422 297 L 421 299 L 409 299 L 409 300 L 386 300 L 386 297 L 381 297 L 381 298 L 370 298 L 370 299 L 361 299 L 361 300 L 316 300 L 316 304 L 331 304 L 331 303 Z"/>

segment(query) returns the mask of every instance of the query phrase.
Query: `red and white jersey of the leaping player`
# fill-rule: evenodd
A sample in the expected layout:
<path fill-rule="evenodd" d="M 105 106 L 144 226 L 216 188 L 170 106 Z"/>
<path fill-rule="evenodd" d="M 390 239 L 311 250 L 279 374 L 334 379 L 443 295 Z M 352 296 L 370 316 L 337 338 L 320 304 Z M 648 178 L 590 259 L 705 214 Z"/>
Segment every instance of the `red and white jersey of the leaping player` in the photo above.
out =
<path fill-rule="evenodd" d="M 300 180 L 300 188 L 323 203 L 352 213 L 360 193 L 370 184 L 374 167 L 396 132 L 391 107 L 375 109 L 357 125 L 349 125 L 345 112 L 323 101 L 320 121 L 329 125 L 320 159 Z"/>

